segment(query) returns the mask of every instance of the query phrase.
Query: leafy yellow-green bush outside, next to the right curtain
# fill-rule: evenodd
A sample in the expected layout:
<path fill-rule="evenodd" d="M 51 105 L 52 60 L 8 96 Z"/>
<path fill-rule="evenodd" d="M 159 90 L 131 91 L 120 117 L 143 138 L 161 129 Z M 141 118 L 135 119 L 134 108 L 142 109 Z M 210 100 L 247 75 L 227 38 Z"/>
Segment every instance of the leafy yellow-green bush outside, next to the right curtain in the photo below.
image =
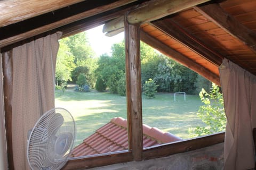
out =
<path fill-rule="evenodd" d="M 223 106 L 223 97 L 219 87 L 212 83 L 210 93 L 202 89 L 199 97 L 204 105 L 199 107 L 197 115 L 206 126 L 196 127 L 194 130 L 189 129 L 189 133 L 195 133 L 194 136 L 199 136 L 225 131 L 226 115 Z"/>

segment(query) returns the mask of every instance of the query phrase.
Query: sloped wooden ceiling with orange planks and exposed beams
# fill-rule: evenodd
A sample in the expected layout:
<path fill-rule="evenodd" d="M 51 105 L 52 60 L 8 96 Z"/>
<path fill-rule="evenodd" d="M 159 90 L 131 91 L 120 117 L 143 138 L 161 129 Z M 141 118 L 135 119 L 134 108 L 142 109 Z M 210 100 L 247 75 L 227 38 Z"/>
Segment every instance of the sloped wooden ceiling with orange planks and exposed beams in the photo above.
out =
<path fill-rule="evenodd" d="M 8 50 L 15 43 L 54 31 L 62 31 L 62 37 L 73 35 L 162 1 L 52 0 L 53 7 L 42 0 L 1 1 L 0 48 Z M 256 75 L 256 1 L 205 2 L 174 12 L 167 9 L 161 17 L 141 22 L 141 40 L 219 85 L 223 58 Z"/>

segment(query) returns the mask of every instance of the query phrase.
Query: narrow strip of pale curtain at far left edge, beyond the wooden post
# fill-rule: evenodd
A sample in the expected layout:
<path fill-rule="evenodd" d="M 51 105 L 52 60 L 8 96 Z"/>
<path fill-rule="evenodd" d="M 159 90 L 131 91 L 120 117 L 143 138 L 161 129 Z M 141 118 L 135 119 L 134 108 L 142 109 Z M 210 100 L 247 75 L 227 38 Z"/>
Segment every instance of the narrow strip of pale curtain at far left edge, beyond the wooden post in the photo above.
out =
<path fill-rule="evenodd" d="M 4 92 L 2 54 L 0 53 L 0 169 L 7 169 L 7 150 L 4 124 Z"/>

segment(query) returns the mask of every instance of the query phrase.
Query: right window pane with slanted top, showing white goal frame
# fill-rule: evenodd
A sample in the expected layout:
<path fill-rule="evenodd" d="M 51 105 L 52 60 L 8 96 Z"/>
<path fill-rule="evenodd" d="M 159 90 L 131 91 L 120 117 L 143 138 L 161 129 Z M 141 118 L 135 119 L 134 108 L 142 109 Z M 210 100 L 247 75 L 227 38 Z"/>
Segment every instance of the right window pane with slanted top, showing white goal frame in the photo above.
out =
<path fill-rule="evenodd" d="M 144 148 L 225 130 L 219 87 L 143 43 L 141 83 Z"/>

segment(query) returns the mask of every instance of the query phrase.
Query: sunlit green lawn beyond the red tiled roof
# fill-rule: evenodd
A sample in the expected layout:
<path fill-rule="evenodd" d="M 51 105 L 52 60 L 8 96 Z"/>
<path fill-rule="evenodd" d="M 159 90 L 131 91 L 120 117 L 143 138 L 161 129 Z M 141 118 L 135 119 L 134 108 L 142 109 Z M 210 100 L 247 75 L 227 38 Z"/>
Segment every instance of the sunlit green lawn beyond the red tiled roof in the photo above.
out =
<path fill-rule="evenodd" d="M 156 127 L 166 132 L 188 138 L 188 128 L 203 125 L 196 116 L 202 105 L 198 96 L 178 95 L 176 101 L 173 94 L 158 93 L 155 98 L 142 96 L 143 124 Z M 126 118 L 126 97 L 109 94 L 109 92 L 75 92 L 67 89 L 57 90 L 55 107 L 66 108 L 75 118 L 77 139 L 75 145 L 94 133 L 95 130 L 108 123 L 111 118 Z"/>

